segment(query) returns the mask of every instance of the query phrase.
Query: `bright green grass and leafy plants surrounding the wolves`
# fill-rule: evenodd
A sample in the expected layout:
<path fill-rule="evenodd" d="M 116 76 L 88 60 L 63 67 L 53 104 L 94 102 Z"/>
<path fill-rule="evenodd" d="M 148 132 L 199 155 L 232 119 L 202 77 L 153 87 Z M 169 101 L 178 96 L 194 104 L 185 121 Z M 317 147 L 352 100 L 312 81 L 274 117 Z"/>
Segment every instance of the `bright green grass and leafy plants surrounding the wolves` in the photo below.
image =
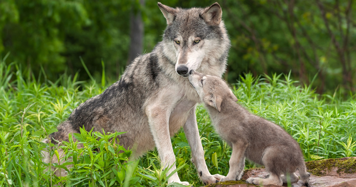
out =
<path fill-rule="evenodd" d="M 63 74 L 55 82 L 45 74 L 35 79 L 16 63 L 6 65 L 5 59 L 0 62 L 0 186 L 167 186 L 167 170 L 160 168 L 156 151 L 127 162 L 131 151 L 115 144 L 117 134 L 103 132 L 73 135 L 84 144 L 83 149 L 73 141 L 56 145 L 51 155 L 57 158 L 57 149 L 64 149 L 67 161 L 52 164 L 53 170 L 47 171 L 40 151 L 51 145 L 40 141 L 80 103 L 102 93 L 109 81 L 102 76 L 100 83 L 94 78 L 78 82 L 78 74 Z M 318 95 L 288 75 L 276 74 L 263 78 L 246 74 L 233 89 L 241 105 L 286 129 L 299 142 L 306 161 L 356 156 L 355 95 L 348 100 L 338 98 L 337 93 Z M 226 175 L 230 147 L 214 132 L 201 106 L 197 121 L 210 173 Z M 190 147 L 182 130 L 172 138 L 172 145 L 180 179 L 203 186 L 190 162 Z M 67 170 L 69 164 L 74 166 L 67 177 L 53 175 L 54 170 Z M 254 166 L 246 162 L 246 168 Z"/>

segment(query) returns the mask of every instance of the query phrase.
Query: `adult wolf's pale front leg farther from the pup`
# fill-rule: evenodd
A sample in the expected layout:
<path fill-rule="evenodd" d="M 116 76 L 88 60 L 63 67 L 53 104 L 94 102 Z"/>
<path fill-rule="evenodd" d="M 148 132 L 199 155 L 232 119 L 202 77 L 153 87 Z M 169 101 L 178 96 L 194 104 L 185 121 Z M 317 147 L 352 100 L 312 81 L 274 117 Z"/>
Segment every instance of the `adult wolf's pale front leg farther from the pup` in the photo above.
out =
<path fill-rule="evenodd" d="M 169 108 L 163 108 L 161 104 L 152 105 L 146 109 L 148 123 L 157 147 L 161 167 L 169 168 L 167 176 L 176 169 L 176 156 L 173 152 L 171 137 L 169 136 Z M 171 167 L 172 166 L 172 167 Z M 189 185 L 189 182 L 181 182 L 178 173 L 174 173 L 168 178 L 168 183 L 177 182 L 182 185 Z"/>

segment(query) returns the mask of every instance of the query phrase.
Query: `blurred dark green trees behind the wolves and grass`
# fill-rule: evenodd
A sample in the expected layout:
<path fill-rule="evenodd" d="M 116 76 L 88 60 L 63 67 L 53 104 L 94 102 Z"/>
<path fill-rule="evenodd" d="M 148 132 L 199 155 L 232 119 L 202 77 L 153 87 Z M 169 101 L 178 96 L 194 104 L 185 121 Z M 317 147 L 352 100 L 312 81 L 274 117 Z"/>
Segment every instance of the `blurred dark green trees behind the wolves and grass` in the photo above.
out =
<path fill-rule="evenodd" d="M 205 7 L 211 0 L 162 0 Z M 356 91 L 353 0 L 218 0 L 230 35 L 225 79 L 243 72 L 288 73 L 318 93 Z M 0 56 L 56 79 L 83 69 L 98 78 L 101 60 L 116 80 L 137 54 L 162 40 L 166 20 L 152 0 L 0 0 Z M 85 71 L 80 79 L 88 79 Z"/>

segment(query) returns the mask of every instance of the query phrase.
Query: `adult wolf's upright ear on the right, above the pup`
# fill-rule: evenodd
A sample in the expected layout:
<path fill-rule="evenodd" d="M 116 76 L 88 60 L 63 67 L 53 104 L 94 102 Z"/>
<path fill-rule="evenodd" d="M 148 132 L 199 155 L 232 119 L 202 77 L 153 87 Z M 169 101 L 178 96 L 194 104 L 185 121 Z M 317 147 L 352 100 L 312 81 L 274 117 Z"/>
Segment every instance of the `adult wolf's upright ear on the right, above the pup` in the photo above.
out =
<path fill-rule="evenodd" d="M 219 25 L 221 22 L 221 15 L 223 11 L 221 11 L 221 7 L 219 3 L 215 2 L 203 12 L 201 17 L 207 22 L 209 25 Z"/>

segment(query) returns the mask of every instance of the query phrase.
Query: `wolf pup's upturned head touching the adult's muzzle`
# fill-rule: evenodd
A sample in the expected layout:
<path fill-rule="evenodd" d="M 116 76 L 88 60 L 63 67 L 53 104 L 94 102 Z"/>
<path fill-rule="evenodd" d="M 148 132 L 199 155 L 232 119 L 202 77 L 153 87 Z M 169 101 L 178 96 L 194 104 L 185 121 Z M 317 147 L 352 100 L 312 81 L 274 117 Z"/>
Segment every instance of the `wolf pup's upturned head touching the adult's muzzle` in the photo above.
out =
<path fill-rule="evenodd" d="M 234 102 L 238 100 L 226 82 L 220 77 L 203 75 L 191 70 L 189 72 L 189 82 L 198 92 L 200 100 L 219 112 L 221 111 L 221 102 L 223 100 L 232 100 Z"/>

